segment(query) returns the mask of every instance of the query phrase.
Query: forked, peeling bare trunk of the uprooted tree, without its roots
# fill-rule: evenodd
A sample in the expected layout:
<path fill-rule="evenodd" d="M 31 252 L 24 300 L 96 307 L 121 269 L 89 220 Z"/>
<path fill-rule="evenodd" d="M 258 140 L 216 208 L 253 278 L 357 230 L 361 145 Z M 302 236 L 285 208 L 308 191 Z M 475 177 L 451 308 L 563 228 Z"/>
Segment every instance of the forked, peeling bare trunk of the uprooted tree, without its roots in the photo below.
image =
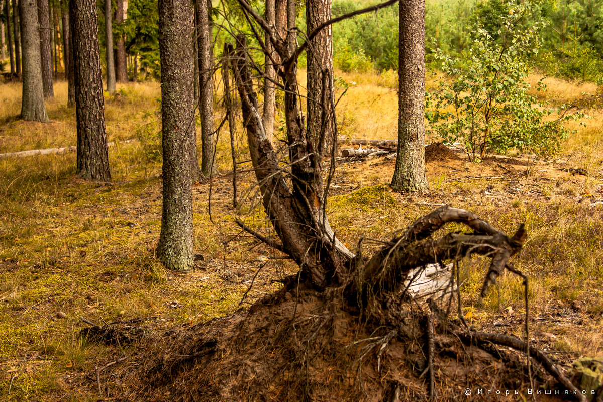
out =
<path fill-rule="evenodd" d="M 289 16 L 294 14 L 291 7 L 294 4 L 289 2 Z M 282 42 L 281 47 L 289 49 L 289 44 Z M 338 283 L 353 254 L 335 237 L 324 210 L 321 158 L 306 136 L 298 101 L 297 60 L 283 66 L 291 189 L 259 117 L 242 34 L 237 36 L 234 64 L 251 161 L 264 208 L 283 242 L 281 250 L 286 250 L 318 289 Z"/>

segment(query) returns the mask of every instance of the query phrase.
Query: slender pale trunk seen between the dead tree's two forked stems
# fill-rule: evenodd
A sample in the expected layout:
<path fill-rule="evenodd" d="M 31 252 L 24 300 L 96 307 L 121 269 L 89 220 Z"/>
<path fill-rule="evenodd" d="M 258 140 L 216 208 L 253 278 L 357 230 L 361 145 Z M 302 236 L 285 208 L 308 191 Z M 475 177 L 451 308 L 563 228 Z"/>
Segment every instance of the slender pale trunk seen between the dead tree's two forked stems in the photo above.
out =
<path fill-rule="evenodd" d="M 270 25 L 275 25 L 275 2 L 274 0 L 266 0 L 266 22 Z M 270 142 L 274 143 L 274 113 L 276 107 L 276 88 L 274 87 L 274 81 L 276 81 L 276 71 L 274 69 L 273 61 L 276 57 L 276 51 L 270 42 L 270 36 L 268 33 L 264 35 L 264 43 L 268 48 L 268 54 L 264 55 L 264 69 L 266 78 L 264 78 L 264 113 L 262 114 L 262 123 L 264 124 L 264 130 L 266 130 L 266 136 Z"/>

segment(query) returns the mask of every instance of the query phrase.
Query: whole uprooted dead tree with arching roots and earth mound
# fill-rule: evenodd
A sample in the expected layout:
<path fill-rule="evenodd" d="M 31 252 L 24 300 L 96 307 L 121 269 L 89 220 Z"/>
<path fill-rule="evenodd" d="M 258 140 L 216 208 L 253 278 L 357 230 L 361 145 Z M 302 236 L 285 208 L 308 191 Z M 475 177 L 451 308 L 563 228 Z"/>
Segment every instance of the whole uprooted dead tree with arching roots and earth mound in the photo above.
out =
<path fill-rule="evenodd" d="M 395 2 L 324 22 L 306 41 L 336 20 Z M 533 387 L 534 381 L 543 383 L 549 375 L 554 378 L 552 386 L 576 391 L 563 372 L 529 343 L 470 331 L 461 325 L 460 307 L 458 324 L 447 319 L 458 287 L 446 263 L 474 254 L 490 259 L 484 296 L 505 269 L 520 274 L 509 259 L 525 240 L 523 225 L 509 237 L 475 213 L 444 206 L 382 241 L 370 257 L 362 255 L 362 243 L 368 239 L 359 240 L 356 254 L 337 239 L 326 214 L 333 163 L 324 186 L 320 146 L 324 133 L 306 131 L 300 107 L 297 57 L 308 42 L 295 46 L 293 36 L 282 37 L 245 0 L 239 4 L 254 21 L 255 40 L 267 57 L 272 57 L 270 48 L 279 55 L 272 63 L 285 94 L 287 152 L 280 160 L 266 134 L 251 77 L 252 69 L 261 69 L 248 57 L 246 38 L 239 34 L 236 46 L 226 46 L 225 55 L 241 98 L 262 204 L 280 242 L 237 223 L 300 269 L 283 281 L 281 291 L 256 301 L 251 309 L 171 334 L 163 338 L 165 348 L 157 341 L 157 348 L 163 349 L 158 359 L 135 363 L 139 366 L 135 370 L 122 368 L 126 391 L 119 395 L 127 400 L 177 401 L 456 400 L 468 386 L 489 389 L 495 382 L 501 388 L 519 389 Z M 288 7 L 289 18 L 294 18 L 294 2 Z M 324 73 L 328 82 L 329 73 Z M 468 230 L 434 236 L 450 222 Z M 442 276 L 443 284 L 438 281 Z M 408 301 L 409 288 L 418 278 L 423 284 Z M 420 297 L 428 303 L 419 303 Z M 519 360 L 520 353 L 497 349 L 497 344 L 526 353 L 529 369 L 526 360 Z M 582 398 L 579 392 L 577 398 Z"/>

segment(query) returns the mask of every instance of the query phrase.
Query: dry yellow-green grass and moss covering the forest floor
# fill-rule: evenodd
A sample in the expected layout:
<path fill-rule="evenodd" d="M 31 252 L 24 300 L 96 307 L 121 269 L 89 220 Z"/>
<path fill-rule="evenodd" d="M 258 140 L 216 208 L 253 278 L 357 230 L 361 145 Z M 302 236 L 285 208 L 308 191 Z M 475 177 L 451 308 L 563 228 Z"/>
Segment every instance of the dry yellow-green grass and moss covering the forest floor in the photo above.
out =
<path fill-rule="evenodd" d="M 338 110 L 340 134 L 395 139 L 395 84 L 374 75 L 344 78 L 350 88 Z M 0 84 L 0 153 L 75 145 L 66 88 L 55 84 L 57 101 L 47 103 L 52 122 L 39 124 L 17 120 L 20 85 Z M 251 227 L 274 234 L 248 162 L 239 166 L 241 206 L 232 207 L 227 134 L 218 139 L 219 174 L 194 186 L 195 251 L 203 260 L 187 274 L 163 269 L 154 257 L 162 188 L 160 87 L 118 89 L 106 98 L 107 133 L 115 143 L 111 184 L 75 177 L 74 153 L 0 159 L 0 400 L 98 400 L 95 366 L 144 344 L 89 341 L 82 318 L 144 322 L 148 333 L 165 333 L 248 307 L 296 270 L 234 223 L 243 216 Z M 564 102 L 596 87 L 551 81 L 549 90 L 553 101 Z M 535 344 L 555 350 L 566 365 L 579 356 L 601 357 L 603 110 L 585 112 L 593 116 L 587 127 L 528 178 L 527 159 L 517 152 L 470 163 L 461 152 L 429 146 L 429 192 L 399 195 L 387 186 L 395 159 L 340 159 L 329 192 L 333 229 L 355 250 L 359 237 L 389 239 L 441 204 L 472 210 L 506 233 L 525 222 L 528 239 L 514 264 L 529 276 Z M 237 138 L 238 160 L 247 160 L 240 127 Z M 481 330 L 521 336 L 522 282 L 506 275 L 479 302 L 485 269 L 479 260 L 462 267 L 467 319 Z"/>

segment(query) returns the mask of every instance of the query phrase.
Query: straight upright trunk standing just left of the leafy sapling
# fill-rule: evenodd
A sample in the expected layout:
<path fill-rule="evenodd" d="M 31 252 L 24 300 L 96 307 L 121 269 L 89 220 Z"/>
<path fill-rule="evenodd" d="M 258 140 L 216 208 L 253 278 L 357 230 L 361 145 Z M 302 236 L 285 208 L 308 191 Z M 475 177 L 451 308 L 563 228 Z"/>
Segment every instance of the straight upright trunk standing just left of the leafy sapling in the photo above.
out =
<path fill-rule="evenodd" d="M 391 187 L 415 192 L 425 177 L 425 0 L 400 1 L 398 156 Z"/>

